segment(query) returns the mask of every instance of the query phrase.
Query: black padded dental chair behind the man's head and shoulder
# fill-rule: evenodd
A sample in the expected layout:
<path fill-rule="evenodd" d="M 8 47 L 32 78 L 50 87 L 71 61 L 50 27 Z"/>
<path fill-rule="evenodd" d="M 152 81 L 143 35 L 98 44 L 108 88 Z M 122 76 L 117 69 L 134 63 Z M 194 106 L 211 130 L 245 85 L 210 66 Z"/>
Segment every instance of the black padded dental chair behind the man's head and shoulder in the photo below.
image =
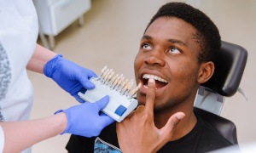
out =
<path fill-rule="evenodd" d="M 195 98 L 194 111 L 232 144 L 238 144 L 236 125 L 219 115 L 225 97 L 231 97 L 237 91 L 243 94 L 239 84 L 246 63 L 247 50 L 245 48 L 222 41 L 214 74 L 208 82 L 201 84 Z"/>

